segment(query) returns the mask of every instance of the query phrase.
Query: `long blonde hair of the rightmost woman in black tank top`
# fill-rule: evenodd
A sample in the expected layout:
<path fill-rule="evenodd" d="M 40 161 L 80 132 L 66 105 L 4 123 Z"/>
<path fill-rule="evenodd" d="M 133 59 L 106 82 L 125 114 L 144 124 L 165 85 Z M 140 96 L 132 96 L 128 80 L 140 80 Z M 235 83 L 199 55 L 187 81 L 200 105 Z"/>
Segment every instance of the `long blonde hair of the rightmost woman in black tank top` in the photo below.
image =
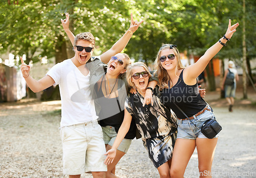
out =
<path fill-rule="evenodd" d="M 163 88 L 168 87 L 168 81 L 170 81 L 170 87 L 173 87 L 173 82 L 170 80 L 169 74 L 167 71 L 162 67 L 161 61 L 160 61 L 160 53 L 162 52 L 163 49 L 174 49 L 175 56 L 177 57 L 177 66 L 176 66 L 176 71 L 177 69 L 184 69 L 185 67 L 182 65 L 181 60 L 180 60 L 180 53 L 177 49 L 176 45 L 173 44 L 163 44 L 161 48 L 159 49 L 155 62 L 154 62 L 154 68 L 155 68 L 155 74 L 157 74 L 159 78 L 159 90 L 162 90 Z"/>

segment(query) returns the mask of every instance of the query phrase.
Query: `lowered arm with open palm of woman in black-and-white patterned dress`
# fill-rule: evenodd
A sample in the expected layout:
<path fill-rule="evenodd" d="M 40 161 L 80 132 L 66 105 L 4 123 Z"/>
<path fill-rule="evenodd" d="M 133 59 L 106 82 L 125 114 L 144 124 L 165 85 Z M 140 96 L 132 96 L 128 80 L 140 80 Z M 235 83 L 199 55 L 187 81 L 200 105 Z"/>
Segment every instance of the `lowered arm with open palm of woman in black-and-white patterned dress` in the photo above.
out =
<path fill-rule="evenodd" d="M 105 165 L 113 163 L 113 161 L 114 161 L 114 159 L 116 157 L 116 150 L 117 150 L 118 146 L 120 145 L 120 143 L 122 142 L 122 140 L 125 137 L 125 135 L 127 134 L 127 132 L 129 131 L 130 125 L 131 125 L 131 121 L 132 121 L 131 114 L 126 109 L 124 109 L 123 122 L 122 122 L 122 124 L 121 124 L 121 126 L 120 126 L 120 128 L 118 130 L 115 142 L 114 142 L 112 148 L 110 150 L 108 150 L 106 152 L 106 154 L 105 154 L 105 155 L 107 155 L 106 159 L 104 161 Z"/>

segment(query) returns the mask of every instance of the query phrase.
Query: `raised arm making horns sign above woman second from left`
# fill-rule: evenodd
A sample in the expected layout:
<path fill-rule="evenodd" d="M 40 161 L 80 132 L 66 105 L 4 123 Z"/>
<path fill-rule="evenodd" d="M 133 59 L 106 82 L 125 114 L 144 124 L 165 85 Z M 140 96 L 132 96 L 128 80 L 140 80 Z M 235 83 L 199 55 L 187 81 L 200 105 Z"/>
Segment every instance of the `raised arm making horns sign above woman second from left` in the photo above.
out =
<path fill-rule="evenodd" d="M 133 33 L 139 28 L 139 26 L 142 22 L 143 22 L 143 20 L 141 20 L 140 22 L 138 22 L 137 20 L 134 21 L 133 14 L 131 13 L 130 28 L 124 33 L 124 35 L 109 50 L 107 50 L 105 53 L 100 55 L 101 61 L 106 64 L 110 61 L 110 58 L 112 56 L 115 56 L 116 54 L 121 53 L 122 50 L 125 48 L 126 44 L 131 39 Z"/>

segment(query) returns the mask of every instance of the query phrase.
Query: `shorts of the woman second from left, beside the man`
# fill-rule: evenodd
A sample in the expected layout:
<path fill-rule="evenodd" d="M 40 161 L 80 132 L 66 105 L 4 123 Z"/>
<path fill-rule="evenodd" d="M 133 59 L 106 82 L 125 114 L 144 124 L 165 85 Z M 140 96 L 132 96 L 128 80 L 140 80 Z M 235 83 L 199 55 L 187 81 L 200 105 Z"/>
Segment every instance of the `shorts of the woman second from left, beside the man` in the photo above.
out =
<path fill-rule="evenodd" d="M 105 144 L 113 146 L 116 136 L 117 136 L 115 128 L 110 125 L 101 126 L 101 128 L 102 128 L 103 139 L 104 139 Z M 122 142 L 120 143 L 120 145 L 118 146 L 117 150 L 127 153 L 131 143 L 132 143 L 132 139 L 124 138 L 122 140 Z"/>

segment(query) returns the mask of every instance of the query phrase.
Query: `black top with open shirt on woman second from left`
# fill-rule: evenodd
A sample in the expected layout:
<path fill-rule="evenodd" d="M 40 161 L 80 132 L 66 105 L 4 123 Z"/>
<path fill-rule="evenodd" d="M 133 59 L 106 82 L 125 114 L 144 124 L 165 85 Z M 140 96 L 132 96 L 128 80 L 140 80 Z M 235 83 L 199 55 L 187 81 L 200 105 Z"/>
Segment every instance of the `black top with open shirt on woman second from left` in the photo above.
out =
<path fill-rule="evenodd" d="M 103 81 L 103 80 L 102 80 Z M 98 90 L 97 85 L 95 85 L 95 91 L 97 94 L 98 103 L 101 106 L 101 110 L 99 112 L 99 124 L 101 126 L 113 126 L 115 128 L 116 133 L 123 122 L 124 110 L 121 110 L 119 105 L 118 96 L 115 98 L 107 98 L 104 96 L 102 92 L 102 81 L 100 83 L 100 87 Z M 115 91 L 114 91 L 115 92 Z M 123 104 L 124 105 L 124 104 Z M 134 139 L 136 136 L 136 124 L 134 119 L 132 119 L 130 130 L 127 132 L 124 138 L 126 139 Z"/>

